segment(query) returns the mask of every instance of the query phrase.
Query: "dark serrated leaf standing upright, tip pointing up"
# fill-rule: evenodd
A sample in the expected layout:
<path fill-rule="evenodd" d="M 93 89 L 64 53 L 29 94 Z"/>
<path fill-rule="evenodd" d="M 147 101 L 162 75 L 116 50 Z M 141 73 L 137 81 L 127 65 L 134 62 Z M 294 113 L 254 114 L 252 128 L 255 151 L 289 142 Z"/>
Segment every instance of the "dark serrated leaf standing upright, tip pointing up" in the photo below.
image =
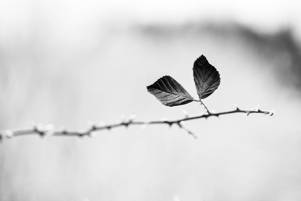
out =
<path fill-rule="evenodd" d="M 204 55 L 197 58 L 193 65 L 193 76 L 200 99 L 212 94 L 219 87 L 219 72 L 209 64 Z"/>

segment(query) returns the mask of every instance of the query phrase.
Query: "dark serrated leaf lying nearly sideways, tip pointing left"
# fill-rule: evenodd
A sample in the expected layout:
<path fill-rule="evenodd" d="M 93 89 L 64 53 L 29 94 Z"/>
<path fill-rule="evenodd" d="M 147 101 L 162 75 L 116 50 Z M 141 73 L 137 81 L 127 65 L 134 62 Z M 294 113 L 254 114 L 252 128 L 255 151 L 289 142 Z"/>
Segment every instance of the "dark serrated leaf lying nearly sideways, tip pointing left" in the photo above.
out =
<path fill-rule="evenodd" d="M 161 103 L 170 107 L 184 105 L 194 100 L 183 86 L 169 75 L 161 77 L 154 84 L 146 88 Z"/>

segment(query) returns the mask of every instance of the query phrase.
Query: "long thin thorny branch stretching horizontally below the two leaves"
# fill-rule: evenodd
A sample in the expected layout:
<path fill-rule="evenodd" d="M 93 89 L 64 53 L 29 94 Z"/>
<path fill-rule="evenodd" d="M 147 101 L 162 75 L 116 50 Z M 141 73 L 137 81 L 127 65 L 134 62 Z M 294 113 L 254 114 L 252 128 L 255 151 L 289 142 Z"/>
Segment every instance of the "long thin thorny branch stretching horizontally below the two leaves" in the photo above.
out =
<path fill-rule="evenodd" d="M 89 136 L 89 137 L 93 137 L 93 136 L 95 136 L 95 131 L 99 131 L 99 130 L 111 130 L 112 128 L 121 127 L 121 126 L 128 127 L 129 125 L 142 125 L 141 128 L 144 128 L 148 124 L 168 124 L 169 126 L 172 126 L 173 124 L 177 124 L 180 128 L 186 130 L 188 132 L 188 134 L 192 135 L 194 138 L 197 138 L 197 134 L 194 133 L 194 131 L 190 130 L 187 126 L 184 125 L 185 121 L 192 120 L 192 119 L 199 119 L 199 118 L 208 118 L 210 116 L 219 117 L 219 115 L 238 113 L 238 112 L 245 113 L 245 115 L 249 115 L 251 113 L 263 113 L 265 115 L 272 116 L 275 114 L 274 110 L 270 110 L 270 111 L 260 110 L 258 108 L 259 105 L 256 108 L 252 108 L 250 110 L 241 110 L 240 108 L 238 108 L 237 105 L 235 105 L 235 107 L 236 107 L 235 110 L 215 113 L 215 112 L 209 112 L 208 108 L 205 106 L 207 113 L 189 117 L 186 112 L 185 118 L 178 119 L 178 120 L 164 119 L 164 120 L 159 120 L 159 121 L 134 121 L 136 116 L 134 114 L 132 114 L 132 115 L 130 115 L 130 117 L 128 119 L 123 119 L 123 121 L 120 123 L 109 124 L 109 125 L 96 125 L 94 123 L 90 123 L 91 127 L 88 130 L 77 130 L 77 131 L 67 130 L 65 128 L 55 130 L 53 128 L 53 125 L 51 125 L 51 124 L 48 124 L 46 126 L 43 126 L 42 124 L 36 124 L 32 128 L 1 130 L 0 131 L 0 140 L 3 140 L 5 138 L 27 135 L 27 134 L 38 134 L 41 137 L 43 137 L 43 136 L 78 136 L 78 137 Z"/>

